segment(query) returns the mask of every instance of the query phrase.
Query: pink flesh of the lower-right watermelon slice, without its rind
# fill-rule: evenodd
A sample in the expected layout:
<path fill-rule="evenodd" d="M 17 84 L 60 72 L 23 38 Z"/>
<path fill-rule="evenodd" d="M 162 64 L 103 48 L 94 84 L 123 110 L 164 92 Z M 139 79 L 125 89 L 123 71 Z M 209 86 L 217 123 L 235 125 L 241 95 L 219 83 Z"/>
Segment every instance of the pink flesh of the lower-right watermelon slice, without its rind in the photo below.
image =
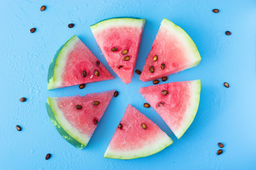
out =
<path fill-rule="evenodd" d="M 139 93 L 159 113 L 175 135 L 176 132 L 180 131 L 180 128 L 183 128 L 182 123 L 186 119 L 187 108 L 191 105 L 192 91 L 190 85 L 191 81 L 181 81 L 139 89 Z M 168 91 L 169 94 L 166 96 L 161 94 L 163 90 Z"/>

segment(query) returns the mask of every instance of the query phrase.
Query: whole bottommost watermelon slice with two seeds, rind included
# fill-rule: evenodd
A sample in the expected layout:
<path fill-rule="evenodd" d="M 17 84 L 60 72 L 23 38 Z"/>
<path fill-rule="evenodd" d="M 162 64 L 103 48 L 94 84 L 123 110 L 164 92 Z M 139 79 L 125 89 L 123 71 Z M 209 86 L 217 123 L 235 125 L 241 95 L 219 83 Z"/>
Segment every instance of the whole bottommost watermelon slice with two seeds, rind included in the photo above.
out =
<path fill-rule="evenodd" d="M 155 123 L 127 106 L 124 117 L 107 147 L 104 157 L 112 159 L 135 159 L 160 152 L 173 141 Z"/>

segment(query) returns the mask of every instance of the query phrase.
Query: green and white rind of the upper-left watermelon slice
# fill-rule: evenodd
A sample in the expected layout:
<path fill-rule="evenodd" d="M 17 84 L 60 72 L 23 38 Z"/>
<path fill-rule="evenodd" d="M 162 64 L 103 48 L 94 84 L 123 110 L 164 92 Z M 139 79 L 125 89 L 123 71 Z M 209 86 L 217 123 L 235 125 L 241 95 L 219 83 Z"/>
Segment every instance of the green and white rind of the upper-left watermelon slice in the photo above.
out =
<path fill-rule="evenodd" d="M 48 69 L 48 84 L 47 89 L 55 89 L 61 85 L 61 75 L 65 67 L 65 62 L 67 62 L 67 55 L 70 50 L 73 49 L 75 42 L 79 40 L 77 35 L 70 38 L 60 49 L 55 53 L 53 61 L 50 63 Z"/>

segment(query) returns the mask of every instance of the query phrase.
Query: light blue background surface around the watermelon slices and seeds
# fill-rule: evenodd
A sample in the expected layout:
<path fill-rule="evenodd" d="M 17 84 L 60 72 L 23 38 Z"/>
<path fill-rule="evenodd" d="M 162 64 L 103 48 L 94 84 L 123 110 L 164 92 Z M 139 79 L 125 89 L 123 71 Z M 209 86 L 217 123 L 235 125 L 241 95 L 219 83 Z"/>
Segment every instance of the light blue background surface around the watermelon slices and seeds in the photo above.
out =
<path fill-rule="evenodd" d="M 46 11 L 40 11 L 42 5 Z M 213 8 L 220 13 L 213 13 Z M 1 1 L 0 16 L 0 169 L 256 169 L 256 1 Z M 167 81 L 202 83 L 198 113 L 180 140 L 153 108 L 143 107 L 138 91 L 151 82 L 143 83 L 134 74 L 131 84 L 122 83 L 100 55 L 90 25 L 119 16 L 147 19 L 136 69 L 142 69 L 163 18 L 186 30 L 201 53 L 197 67 Z M 75 27 L 68 28 L 68 23 Z M 37 30 L 31 34 L 33 27 Z M 232 35 L 225 35 L 225 30 Z M 115 79 L 87 84 L 82 90 L 72 86 L 47 91 L 55 51 L 75 34 Z M 112 99 L 85 149 L 60 137 L 46 113 L 48 96 L 110 89 L 119 96 Z M 28 100 L 21 103 L 23 96 Z M 105 159 L 128 103 L 159 125 L 174 144 L 146 158 Z M 21 125 L 21 132 L 16 125 Z M 220 156 L 218 142 L 225 145 Z M 52 157 L 46 161 L 48 153 Z"/>

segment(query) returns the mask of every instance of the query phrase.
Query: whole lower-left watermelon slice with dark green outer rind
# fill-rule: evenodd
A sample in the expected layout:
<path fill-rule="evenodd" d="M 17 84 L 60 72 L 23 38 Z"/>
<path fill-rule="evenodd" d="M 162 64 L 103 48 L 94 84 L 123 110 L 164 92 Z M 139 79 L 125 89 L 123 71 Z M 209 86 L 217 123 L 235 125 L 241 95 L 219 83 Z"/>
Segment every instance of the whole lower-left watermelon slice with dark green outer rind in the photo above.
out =
<path fill-rule="evenodd" d="M 92 137 L 113 94 L 114 90 L 85 96 L 52 97 L 48 98 L 46 108 L 60 135 L 82 149 Z"/>

